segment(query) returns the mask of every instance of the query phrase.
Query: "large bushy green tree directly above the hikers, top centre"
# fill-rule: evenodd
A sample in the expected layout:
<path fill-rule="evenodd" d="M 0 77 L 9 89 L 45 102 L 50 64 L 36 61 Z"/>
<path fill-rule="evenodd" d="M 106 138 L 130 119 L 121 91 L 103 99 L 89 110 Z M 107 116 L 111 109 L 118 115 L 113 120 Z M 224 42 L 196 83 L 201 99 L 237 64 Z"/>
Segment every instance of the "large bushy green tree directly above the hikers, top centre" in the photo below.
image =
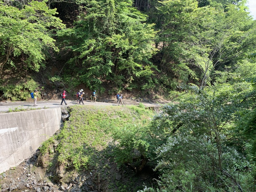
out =
<path fill-rule="evenodd" d="M 72 39 L 66 47 L 76 56 L 68 63 L 81 61 L 84 83 L 90 87 L 109 81 L 121 86 L 152 75 L 154 25 L 144 23 L 146 15 L 133 8 L 132 2 L 91 1 L 84 5 L 84 12 L 75 28 L 58 34 Z"/>

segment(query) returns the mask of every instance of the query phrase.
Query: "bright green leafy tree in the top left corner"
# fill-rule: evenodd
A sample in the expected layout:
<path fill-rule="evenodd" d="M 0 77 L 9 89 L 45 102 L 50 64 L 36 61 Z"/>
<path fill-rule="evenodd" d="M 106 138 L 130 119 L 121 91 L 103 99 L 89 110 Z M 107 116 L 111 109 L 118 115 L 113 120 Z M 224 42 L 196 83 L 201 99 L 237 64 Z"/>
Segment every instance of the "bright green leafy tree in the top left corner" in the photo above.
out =
<path fill-rule="evenodd" d="M 38 71 L 43 51 L 58 51 L 49 32 L 50 28 L 64 28 L 64 24 L 53 16 L 56 9 L 50 10 L 45 2 L 31 1 L 17 7 L 0 2 L 0 74 L 7 62 L 14 65 L 12 57 L 26 55 L 25 64 Z"/>

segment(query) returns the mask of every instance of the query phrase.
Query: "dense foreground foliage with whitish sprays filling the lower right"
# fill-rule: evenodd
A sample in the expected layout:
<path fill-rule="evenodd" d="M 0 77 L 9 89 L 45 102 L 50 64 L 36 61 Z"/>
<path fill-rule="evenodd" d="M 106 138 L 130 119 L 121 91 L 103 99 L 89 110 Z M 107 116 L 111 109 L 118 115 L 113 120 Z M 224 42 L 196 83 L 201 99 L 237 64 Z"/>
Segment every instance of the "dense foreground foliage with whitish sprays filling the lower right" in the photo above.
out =
<path fill-rule="evenodd" d="M 160 180 L 156 191 L 255 188 L 254 163 L 250 158 L 255 152 L 255 111 L 250 110 L 255 107 L 255 91 L 245 82 L 218 85 L 207 91 L 189 88 L 187 94 L 179 97 L 179 104 L 164 106 L 153 119 L 148 132 L 157 135 L 154 142 L 159 146 L 155 170 L 160 172 Z M 239 132 L 236 134 L 233 129 Z M 248 149 L 245 153 L 237 140 L 244 141 Z"/>

